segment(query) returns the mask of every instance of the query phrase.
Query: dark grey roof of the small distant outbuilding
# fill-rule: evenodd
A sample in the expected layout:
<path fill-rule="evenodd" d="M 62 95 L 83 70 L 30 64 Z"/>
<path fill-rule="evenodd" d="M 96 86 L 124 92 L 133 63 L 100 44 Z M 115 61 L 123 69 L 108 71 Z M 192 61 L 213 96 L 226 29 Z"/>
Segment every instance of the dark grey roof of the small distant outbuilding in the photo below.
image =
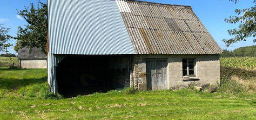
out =
<path fill-rule="evenodd" d="M 18 51 L 18 59 L 46 59 L 47 55 L 41 52 L 41 48 L 34 47 L 29 52 L 29 48 L 24 47 Z"/>

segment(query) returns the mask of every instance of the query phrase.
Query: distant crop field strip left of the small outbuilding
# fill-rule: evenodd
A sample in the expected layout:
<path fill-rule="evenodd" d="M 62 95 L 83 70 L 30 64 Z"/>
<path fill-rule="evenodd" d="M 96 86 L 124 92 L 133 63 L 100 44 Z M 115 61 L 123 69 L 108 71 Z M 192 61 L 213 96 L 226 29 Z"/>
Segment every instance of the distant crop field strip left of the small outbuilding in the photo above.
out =
<path fill-rule="evenodd" d="M 0 57 L 0 67 L 10 67 L 13 65 L 18 66 L 19 65 L 19 60 L 18 57 Z"/>

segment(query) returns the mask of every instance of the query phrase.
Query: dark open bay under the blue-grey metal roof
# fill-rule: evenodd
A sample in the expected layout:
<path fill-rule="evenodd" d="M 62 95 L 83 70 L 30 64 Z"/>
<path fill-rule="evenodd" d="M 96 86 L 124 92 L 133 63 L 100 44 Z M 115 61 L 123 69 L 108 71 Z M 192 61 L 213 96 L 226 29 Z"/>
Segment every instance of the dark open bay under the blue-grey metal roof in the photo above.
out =
<path fill-rule="evenodd" d="M 56 69 L 58 92 L 70 98 L 124 88 L 128 64 L 129 57 L 123 56 L 67 56 Z"/>

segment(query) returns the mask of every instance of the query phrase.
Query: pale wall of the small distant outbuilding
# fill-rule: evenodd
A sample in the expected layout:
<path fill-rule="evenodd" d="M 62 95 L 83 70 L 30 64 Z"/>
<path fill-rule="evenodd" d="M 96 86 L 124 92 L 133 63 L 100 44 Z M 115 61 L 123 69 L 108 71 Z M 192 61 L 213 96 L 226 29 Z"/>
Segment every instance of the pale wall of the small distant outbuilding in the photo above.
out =
<path fill-rule="evenodd" d="M 21 59 L 21 68 L 27 69 L 46 69 L 47 60 L 46 59 Z"/>

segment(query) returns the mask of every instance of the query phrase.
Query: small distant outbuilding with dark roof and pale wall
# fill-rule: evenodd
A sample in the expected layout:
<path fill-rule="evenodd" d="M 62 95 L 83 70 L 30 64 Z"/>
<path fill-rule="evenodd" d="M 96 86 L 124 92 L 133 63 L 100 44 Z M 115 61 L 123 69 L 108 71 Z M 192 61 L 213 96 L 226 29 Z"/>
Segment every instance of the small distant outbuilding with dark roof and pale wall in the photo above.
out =
<path fill-rule="evenodd" d="M 47 55 L 41 52 L 40 48 L 24 47 L 18 51 L 18 59 L 21 68 L 27 69 L 46 69 L 47 68 Z"/>

